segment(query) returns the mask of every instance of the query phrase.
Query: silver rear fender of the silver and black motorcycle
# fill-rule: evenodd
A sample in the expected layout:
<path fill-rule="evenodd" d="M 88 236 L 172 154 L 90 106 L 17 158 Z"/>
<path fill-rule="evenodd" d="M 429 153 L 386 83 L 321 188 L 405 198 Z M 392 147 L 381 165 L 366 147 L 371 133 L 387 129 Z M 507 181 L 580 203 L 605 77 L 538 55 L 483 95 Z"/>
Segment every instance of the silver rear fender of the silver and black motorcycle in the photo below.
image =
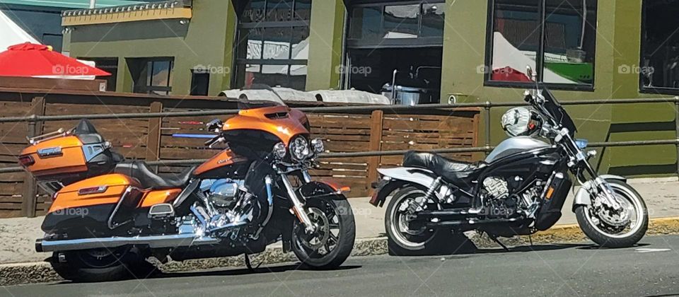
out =
<path fill-rule="evenodd" d="M 377 172 L 383 176 L 383 180 L 390 180 L 392 182 L 388 182 L 381 187 L 381 189 L 375 191 L 370 202 L 375 206 L 382 206 L 388 194 L 402 185 L 410 182 L 421 185 L 425 189 L 429 189 L 437 177 L 431 170 L 414 167 L 378 168 Z M 435 194 L 436 197 L 441 200 L 443 197 L 446 197 L 446 194 L 448 194 L 449 191 L 450 187 L 442 184 L 441 188 L 436 191 Z"/>

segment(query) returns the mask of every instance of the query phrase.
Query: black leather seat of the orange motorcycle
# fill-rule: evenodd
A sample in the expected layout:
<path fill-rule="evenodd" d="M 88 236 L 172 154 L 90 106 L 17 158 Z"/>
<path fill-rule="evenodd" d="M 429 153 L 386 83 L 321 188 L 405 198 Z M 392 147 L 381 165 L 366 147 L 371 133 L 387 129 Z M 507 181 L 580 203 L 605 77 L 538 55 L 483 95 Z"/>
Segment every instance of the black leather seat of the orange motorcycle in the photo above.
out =
<path fill-rule="evenodd" d="M 154 173 L 149 165 L 146 165 L 143 161 L 130 161 L 124 163 L 118 163 L 115 165 L 113 170 L 115 173 L 120 173 L 127 175 L 129 177 L 134 177 L 139 180 L 141 187 L 152 188 L 152 189 L 168 189 L 175 187 L 184 187 L 189 183 L 191 178 L 191 173 L 195 169 L 195 166 L 185 169 L 182 173 L 166 173 L 157 174 Z"/>

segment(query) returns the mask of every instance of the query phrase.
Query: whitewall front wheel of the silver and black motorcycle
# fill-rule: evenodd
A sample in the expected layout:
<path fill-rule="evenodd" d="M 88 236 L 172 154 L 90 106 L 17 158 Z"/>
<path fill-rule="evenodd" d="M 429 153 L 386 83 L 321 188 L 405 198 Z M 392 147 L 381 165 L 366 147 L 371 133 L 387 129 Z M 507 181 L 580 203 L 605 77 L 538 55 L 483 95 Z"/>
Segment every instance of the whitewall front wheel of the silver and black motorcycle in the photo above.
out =
<path fill-rule="evenodd" d="M 628 220 L 618 223 L 620 214 L 605 206 L 579 205 L 575 215 L 583 233 L 602 248 L 627 248 L 638 243 L 649 227 L 649 214 L 641 195 L 626 182 L 608 180 L 614 194 L 620 200 Z M 600 198 L 596 198 L 600 199 Z M 596 199 L 593 202 L 596 205 Z"/>

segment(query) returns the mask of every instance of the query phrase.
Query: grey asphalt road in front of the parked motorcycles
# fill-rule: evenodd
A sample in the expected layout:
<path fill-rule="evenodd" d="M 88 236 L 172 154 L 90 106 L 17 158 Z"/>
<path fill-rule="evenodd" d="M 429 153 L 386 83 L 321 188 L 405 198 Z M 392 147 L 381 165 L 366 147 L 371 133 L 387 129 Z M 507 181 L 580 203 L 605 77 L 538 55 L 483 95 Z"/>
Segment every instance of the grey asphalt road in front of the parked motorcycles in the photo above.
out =
<path fill-rule="evenodd" d="M 649 236 L 617 250 L 540 245 L 443 257 L 356 257 L 325 272 L 295 268 L 8 286 L 0 296 L 675 296 L 679 236 Z"/>

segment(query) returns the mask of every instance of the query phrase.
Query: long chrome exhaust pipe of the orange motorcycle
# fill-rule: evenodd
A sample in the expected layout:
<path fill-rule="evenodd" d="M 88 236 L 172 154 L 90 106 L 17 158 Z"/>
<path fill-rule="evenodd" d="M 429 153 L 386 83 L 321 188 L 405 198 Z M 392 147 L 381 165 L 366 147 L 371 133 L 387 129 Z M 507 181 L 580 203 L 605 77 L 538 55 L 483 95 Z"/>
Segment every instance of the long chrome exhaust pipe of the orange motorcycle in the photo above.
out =
<path fill-rule="evenodd" d="M 213 245 L 219 243 L 219 241 L 217 238 L 199 236 L 195 233 L 66 240 L 38 239 L 35 241 L 35 250 L 37 252 L 55 252 L 62 250 L 117 248 L 123 245 L 146 245 L 149 248 L 178 248 L 193 245 Z"/>

